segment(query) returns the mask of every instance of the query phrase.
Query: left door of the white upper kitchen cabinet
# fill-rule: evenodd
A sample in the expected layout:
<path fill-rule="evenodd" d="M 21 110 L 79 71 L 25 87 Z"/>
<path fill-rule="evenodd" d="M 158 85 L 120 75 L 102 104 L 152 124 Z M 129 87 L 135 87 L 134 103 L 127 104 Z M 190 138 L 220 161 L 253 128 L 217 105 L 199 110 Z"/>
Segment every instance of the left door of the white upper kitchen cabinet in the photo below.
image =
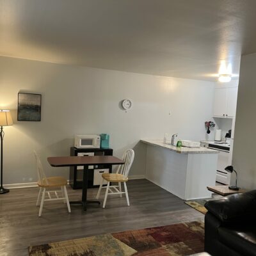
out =
<path fill-rule="evenodd" d="M 227 88 L 215 89 L 214 116 L 226 116 L 227 109 Z"/>

